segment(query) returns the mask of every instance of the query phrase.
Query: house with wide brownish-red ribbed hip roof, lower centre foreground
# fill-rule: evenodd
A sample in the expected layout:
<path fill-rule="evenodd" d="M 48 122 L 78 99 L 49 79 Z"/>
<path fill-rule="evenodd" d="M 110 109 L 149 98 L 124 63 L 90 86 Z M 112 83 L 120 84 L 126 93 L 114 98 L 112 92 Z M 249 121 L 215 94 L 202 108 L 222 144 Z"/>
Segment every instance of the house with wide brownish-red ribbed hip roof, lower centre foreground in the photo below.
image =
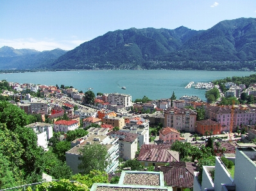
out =
<path fill-rule="evenodd" d="M 144 167 L 164 166 L 170 162 L 178 162 L 179 154 L 171 151 L 168 145 L 143 144 L 138 160 Z"/>

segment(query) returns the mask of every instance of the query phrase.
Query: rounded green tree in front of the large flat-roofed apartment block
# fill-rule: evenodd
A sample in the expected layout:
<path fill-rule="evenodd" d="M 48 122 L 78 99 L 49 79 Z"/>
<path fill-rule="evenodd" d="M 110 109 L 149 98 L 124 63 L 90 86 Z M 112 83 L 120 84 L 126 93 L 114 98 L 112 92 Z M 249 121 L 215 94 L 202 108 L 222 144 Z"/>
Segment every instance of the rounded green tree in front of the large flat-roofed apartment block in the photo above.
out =
<path fill-rule="evenodd" d="M 80 149 L 80 155 L 78 169 L 81 174 L 89 174 L 92 170 L 105 171 L 110 163 L 107 148 L 102 144 L 88 144 Z"/>

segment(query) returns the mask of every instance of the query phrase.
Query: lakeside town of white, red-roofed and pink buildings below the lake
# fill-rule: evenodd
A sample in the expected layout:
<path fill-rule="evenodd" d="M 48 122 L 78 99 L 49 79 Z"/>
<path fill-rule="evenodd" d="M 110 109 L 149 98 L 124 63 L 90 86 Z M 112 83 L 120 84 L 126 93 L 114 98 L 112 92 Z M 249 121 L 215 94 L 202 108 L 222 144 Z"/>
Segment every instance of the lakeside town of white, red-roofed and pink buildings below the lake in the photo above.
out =
<path fill-rule="evenodd" d="M 256 93 L 256 84 L 248 88 L 232 82 L 223 85 L 228 90 L 219 92 L 226 98 Z M 207 103 L 186 95 L 177 99 L 174 92 L 168 99 L 144 96 L 133 102 L 131 95 L 94 95 L 90 89 L 82 93 L 64 85 L 8 82 L 8 86 L 12 90 L 2 89 L 1 96 L 12 98 L 9 102 L 26 114 L 40 116 L 40 121 L 26 125 L 37 135 L 38 146 L 49 152 L 59 142 L 68 142 L 69 149 L 61 157 L 73 175 L 81 173 L 83 148 L 101 145 L 109 156 L 103 169 L 110 183 L 118 179 L 113 184 L 118 188 L 255 189 L 255 104 L 219 105 L 218 101 Z M 80 129 L 86 133 L 71 136 Z M 205 158 L 210 159 L 205 162 Z M 139 162 L 138 168 L 133 168 L 132 162 Z M 44 174 L 44 180 L 53 178 Z M 95 184 L 91 190 L 110 187 Z"/>

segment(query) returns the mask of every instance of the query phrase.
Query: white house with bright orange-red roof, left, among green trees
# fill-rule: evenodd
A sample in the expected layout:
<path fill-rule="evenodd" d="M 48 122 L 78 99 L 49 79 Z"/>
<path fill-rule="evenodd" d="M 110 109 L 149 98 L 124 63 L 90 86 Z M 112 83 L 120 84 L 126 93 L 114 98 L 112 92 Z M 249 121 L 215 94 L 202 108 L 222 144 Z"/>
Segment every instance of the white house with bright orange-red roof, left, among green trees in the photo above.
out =
<path fill-rule="evenodd" d="M 60 120 L 60 121 L 55 121 L 53 130 L 55 132 L 65 132 L 67 133 L 68 131 L 72 131 L 78 128 L 78 121 L 76 120 L 71 120 L 71 121 L 66 121 L 66 120 Z"/>

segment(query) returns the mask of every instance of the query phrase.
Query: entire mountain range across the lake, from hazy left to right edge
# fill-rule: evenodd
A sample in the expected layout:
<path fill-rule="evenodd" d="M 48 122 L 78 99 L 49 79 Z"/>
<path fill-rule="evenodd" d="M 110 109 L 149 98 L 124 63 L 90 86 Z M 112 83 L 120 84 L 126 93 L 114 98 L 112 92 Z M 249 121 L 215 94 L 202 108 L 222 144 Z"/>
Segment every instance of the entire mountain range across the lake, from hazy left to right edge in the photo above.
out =
<path fill-rule="evenodd" d="M 0 69 L 242 70 L 256 67 L 256 19 L 224 20 L 207 30 L 111 31 L 73 50 L 0 49 Z"/>

